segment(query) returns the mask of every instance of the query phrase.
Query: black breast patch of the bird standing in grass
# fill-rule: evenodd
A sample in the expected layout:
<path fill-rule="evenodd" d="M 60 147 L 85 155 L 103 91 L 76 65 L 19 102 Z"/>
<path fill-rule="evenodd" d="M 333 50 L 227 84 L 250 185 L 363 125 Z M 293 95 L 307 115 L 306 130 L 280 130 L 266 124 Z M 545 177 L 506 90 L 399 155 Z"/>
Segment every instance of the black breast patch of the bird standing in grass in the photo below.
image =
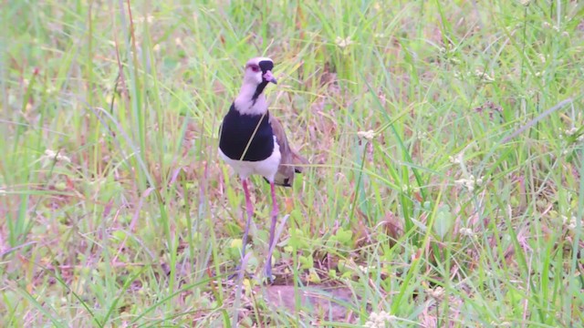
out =
<path fill-rule="evenodd" d="M 232 104 L 219 133 L 219 149 L 230 159 L 242 159 L 243 156 L 243 160 L 263 160 L 274 151 L 274 132 L 269 123 L 269 113 L 242 115 Z"/>

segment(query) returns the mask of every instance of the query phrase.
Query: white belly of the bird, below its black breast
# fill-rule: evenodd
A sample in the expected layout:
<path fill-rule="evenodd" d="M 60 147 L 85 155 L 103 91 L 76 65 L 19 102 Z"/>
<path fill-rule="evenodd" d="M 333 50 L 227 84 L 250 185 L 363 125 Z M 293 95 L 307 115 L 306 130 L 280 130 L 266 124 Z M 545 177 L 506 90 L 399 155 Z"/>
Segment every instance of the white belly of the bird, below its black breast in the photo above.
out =
<path fill-rule="evenodd" d="M 247 179 L 253 174 L 258 174 L 268 179 L 270 182 L 274 181 L 277 167 L 280 165 L 280 159 L 282 159 L 280 146 L 278 146 L 276 142 L 276 136 L 274 136 L 274 151 L 267 159 L 257 161 L 230 159 L 223 151 L 221 151 L 221 149 L 219 149 L 219 156 L 229 164 L 229 166 L 235 170 L 235 173 L 239 174 L 242 179 Z"/>

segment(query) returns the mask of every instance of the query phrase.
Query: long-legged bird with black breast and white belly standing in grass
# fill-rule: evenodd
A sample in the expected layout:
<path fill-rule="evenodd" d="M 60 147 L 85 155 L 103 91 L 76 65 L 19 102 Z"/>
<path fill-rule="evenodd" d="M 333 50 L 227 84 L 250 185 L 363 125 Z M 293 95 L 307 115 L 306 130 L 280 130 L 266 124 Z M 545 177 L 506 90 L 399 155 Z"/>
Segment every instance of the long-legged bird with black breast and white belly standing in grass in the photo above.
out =
<path fill-rule="evenodd" d="M 278 206 L 276 186 L 292 187 L 294 176 L 301 173 L 308 160 L 292 149 L 282 124 L 268 111 L 264 89 L 277 84 L 272 73 L 274 61 L 269 57 L 254 57 L 245 64 L 239 94 L 225 114 L 219 128 L 219 157 L 239 175 L 245 193 L 245 222 L 241 260 L 245 257 L 247 235 L 254 214 L 249 192 L 249 178 L 262 176 L 270 185 L 272 197 L 269 247 L 266 259 L 266 277 L 273 282 L 272 251 Z"/>

